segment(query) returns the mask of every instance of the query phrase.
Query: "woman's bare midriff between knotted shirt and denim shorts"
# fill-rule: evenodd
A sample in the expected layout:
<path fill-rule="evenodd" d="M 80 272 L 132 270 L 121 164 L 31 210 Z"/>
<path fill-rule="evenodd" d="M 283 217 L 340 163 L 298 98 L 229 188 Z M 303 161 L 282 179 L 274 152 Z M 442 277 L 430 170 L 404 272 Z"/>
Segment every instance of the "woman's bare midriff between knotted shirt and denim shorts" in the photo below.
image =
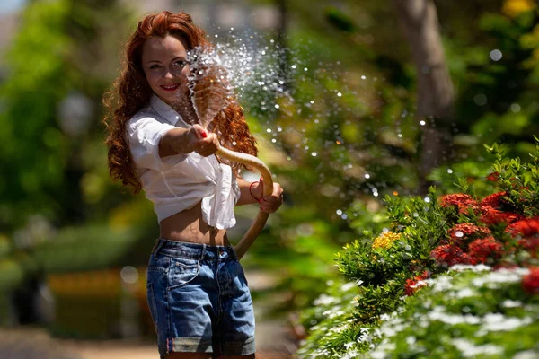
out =
<path fill-rule="evenodd" d="M 229 245 L 225 230 L 217 230 L 204 222 L 201 203 L 163 219 L 159 223 L 160 238 L 212 246 Z"/>

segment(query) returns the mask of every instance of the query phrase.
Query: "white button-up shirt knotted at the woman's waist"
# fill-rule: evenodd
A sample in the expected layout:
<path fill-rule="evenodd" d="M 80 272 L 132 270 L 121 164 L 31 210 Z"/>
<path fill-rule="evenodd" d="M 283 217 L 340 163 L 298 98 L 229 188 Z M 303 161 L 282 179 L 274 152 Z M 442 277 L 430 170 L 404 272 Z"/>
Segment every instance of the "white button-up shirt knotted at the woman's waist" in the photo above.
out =
<path fill-rule="evenodd" d="M 196 152 L 161 158 L 159 141 L 174 127 L 191 126 L 156 95 L 126 126 L 135 171 L 154 203 L 157 220 L 189 209 L 201 199 L 204 222 L 217 229 L 233 227 L 240 188 L 232 169 L 215 155 L 202 157 Z"/>

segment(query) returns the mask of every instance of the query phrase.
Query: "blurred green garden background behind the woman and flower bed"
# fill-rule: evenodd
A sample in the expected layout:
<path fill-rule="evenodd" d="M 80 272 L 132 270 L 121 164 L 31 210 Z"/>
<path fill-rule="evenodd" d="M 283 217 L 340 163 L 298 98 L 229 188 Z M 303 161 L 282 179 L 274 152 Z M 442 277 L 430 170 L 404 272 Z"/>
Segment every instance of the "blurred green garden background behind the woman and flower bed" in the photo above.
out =
<path fill-rule="evenodd" d="M 473 181 L 489 173 L 482 144 L 508 144 L 509 156 L 525 159 L 539 134 L 535 1 L 411 2 L 434 8 L 434 18 L 414 18 L 399 0 L 148 3 L 0 6 L 4 326 L 153 335 L 141 284 L 157 221 L 144 195 L 111 182 L 100 123 L 102 93 L 142 14 L 183 10 L 212 39 L 225 41 L 234 27 L 257 51 L 289 48 L 269 59 L 286 92 L 261 97 L 253 84 L 242 103 L 261 159 L 287 194 L 244 259 L 248 271 L 277 280 L 253 293 L 278 294 L 275 315 L 310 305 L 338 276 L 334 253 L 384 228 L 385 194 Z M 232 241 L 252 212 L 237 208 Z"/>

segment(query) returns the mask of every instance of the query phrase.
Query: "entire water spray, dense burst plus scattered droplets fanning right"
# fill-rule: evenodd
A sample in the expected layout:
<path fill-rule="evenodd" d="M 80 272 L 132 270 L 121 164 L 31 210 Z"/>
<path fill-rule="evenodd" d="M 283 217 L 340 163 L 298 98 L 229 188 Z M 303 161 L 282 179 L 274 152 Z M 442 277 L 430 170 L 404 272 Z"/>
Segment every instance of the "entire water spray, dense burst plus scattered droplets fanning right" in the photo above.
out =
<path fill-rule="evenodd" d="M 340 61 L 315 60 L 313 53 L 320 48 L 310 44 L 279 48 L 275 40 L 257 33 L 239 36 L 232 31 L 219 40 L 223 42 L 212 49 L 190 51 L 188 58 L 193 68 L 190 83 L 203 83 L 191 85 L 190 94 L 208 99 L 194 104 L 203 127 L 219 110 L 238 101 L 245 114 L 257 118 L 258 140 L 274 146 L 283 161 L 293 165 L 315 161 L 310 168 L 323 196 L 341 203 L 358 194 L 383 195 L 386 179 L 379 178 L 369 162 L 373 155 L 383 166 L 394 166 L 396 160 L 391 153 L 372 153 L 373 144 L 409 144 L 414 135 L 409 128 L 420 127 L 411 110 L 395 110 L 385 118 L 378 115 L 386 101 L 398 97 L 387 87 L 384 93 L 377 91 L 384 78 L 357 69 L 344 72 Z M 343 187 L 346 192 L 340 190 Z"/>

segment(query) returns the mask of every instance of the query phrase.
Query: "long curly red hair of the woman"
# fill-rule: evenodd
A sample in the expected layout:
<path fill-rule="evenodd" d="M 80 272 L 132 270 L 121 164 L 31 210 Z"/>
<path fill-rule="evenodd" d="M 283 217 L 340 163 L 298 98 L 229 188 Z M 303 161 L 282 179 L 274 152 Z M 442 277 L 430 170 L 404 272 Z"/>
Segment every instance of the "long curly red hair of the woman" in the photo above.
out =
<path fill-rule="evenodd" d="M 138 22 L 137 31 L 128 39 L 125 57 L 118 78 L 112 89 L 105 92 L 102 103 L 107 109 L 102 119 L 108 136 L 105 144 L 109 147 L 109 171 L 114 180 L 121 180 L 122 188 L 131 187 L 134 193 L 142 188 L 142 183 L 135 172 L 126 137 L 126 123 L 137 111 L 144 108 L 153 92 L 146 81 L 142 67 L 142 48 L 146 39 L 164 38 L 167 35 L 184 39 L 187 50 L 211 47 L 205 33 L 187 13 L 154 13 Z M 212 121 L 212 131 L 219 136 L 221 145 L 236 152 L 257 155 L 256 141 L 249 131 L 243 117 L 243 109 L 238 104 L 230 104 L 221 110 Z M 230 163 L 237 175 L 242 167 L 239 163 Z"/>

